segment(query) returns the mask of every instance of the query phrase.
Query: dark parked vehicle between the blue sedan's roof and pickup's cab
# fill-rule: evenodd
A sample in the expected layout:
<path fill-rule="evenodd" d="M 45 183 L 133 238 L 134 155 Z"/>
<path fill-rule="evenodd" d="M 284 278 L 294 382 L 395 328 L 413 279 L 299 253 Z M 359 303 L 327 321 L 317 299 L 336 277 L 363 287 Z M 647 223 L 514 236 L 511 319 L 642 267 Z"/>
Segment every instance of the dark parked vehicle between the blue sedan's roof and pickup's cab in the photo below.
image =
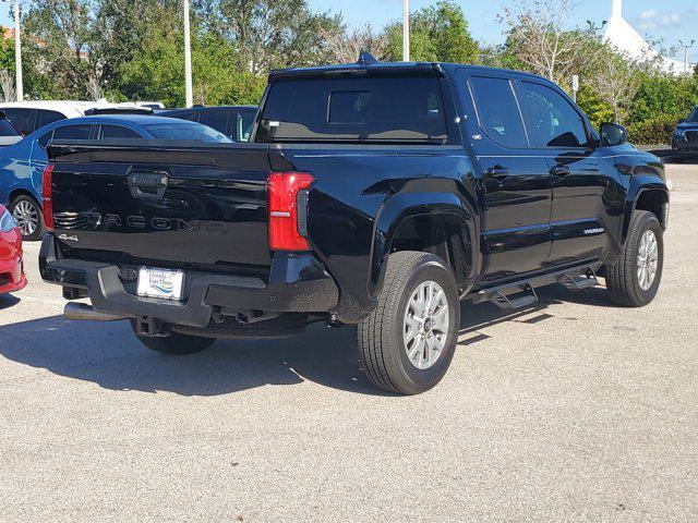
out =
<path fill-rule="evenodd" d="M 233 142 L 249 142 L 256 106 L 220 106 L 192 107 L 190 109 L 171 109 L 159 111 L 159 117 L 179 118 L 192 122 L 203 123 L 225 134 Z"/>

